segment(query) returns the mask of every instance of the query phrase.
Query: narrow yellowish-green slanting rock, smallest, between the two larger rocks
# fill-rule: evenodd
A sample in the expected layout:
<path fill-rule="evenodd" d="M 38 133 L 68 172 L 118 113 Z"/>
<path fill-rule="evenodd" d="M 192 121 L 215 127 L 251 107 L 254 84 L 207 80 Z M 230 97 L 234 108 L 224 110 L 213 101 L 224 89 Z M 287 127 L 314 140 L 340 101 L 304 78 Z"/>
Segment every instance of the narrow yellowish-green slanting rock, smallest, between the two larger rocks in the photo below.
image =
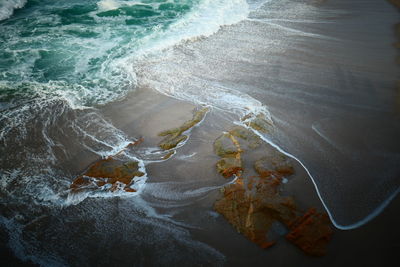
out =
<path fill-rule="evenodd" d="M 165 136 L 165 138 L 159 143 L 159 147 L 164 150 L 175 148 L 180 143 L 184 142 L 188 136 L 184 132 L 196 126 L 201 122 L 204 116 L 208 112 L 208 108 L 202 108 L 195 112 L 193 118 L 183 123 L 180 127 L 169 129 L 159 133 L 159 136 Z"/>

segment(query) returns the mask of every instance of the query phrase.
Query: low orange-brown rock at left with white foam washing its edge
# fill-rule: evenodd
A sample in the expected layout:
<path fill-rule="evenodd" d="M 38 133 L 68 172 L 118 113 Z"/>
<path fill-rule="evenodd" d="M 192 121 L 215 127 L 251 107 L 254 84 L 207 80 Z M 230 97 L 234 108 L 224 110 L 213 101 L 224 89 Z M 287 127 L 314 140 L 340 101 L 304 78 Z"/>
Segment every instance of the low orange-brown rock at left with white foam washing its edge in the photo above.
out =
<path fill-rule="evenodd" d="M 108 157 L 94 163 L 89 169 L 77 177 L 70 188 L 74 192 L 80 189 L 100 189 L 109 191 L 124 190 L 135 192 L 130 186 L 135 177 L 141 177 L 144 173 L 139 171 L 137 161 L 121 161 Z"/>

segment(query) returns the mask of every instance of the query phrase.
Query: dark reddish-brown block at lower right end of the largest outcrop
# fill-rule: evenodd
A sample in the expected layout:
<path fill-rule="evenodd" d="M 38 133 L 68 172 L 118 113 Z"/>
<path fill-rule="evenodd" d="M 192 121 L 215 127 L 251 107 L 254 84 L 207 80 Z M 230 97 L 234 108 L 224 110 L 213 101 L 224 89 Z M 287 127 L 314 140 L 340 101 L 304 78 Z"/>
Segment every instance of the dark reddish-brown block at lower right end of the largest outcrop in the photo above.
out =
<path fill-rule="evenodd" d="M 314 208 L 309 209 L 302 217 L 290 223 L 287 240 L 312 256 L 322 256 L 331 240 L 332 229 L 326 214 L 318 213 Z"/>

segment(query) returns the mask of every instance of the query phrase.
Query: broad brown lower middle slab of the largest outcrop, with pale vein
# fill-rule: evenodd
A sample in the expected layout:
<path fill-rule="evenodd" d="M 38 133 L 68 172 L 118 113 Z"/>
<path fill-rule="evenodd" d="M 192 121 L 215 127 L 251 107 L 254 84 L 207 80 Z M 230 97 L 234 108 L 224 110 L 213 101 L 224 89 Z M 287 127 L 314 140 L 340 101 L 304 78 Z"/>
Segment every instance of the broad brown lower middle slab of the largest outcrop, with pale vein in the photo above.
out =
<path fill-rule="evenodd" d="M 262 248 L 270 247 L 275 243 L 268 238 L 272 224 L 296 217 L 293 200 L 279 195 L 279 185 L 275 178 L 238 178 L 223 189 L 214 208 L 252 242 Z"/>

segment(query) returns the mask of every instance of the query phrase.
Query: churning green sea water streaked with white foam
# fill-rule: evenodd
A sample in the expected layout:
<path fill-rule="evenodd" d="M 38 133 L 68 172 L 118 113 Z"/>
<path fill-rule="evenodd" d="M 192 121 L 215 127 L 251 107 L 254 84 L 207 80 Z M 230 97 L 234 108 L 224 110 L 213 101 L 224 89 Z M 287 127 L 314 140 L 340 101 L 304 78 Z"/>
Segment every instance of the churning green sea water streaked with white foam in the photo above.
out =
<path fill-rule="evenodd" d="M 121 97 L 135 85 L 131 57 L 198 4 L 30 0 L 0 21 L 0 101 L 52 94 L 92 105 Z"/>

